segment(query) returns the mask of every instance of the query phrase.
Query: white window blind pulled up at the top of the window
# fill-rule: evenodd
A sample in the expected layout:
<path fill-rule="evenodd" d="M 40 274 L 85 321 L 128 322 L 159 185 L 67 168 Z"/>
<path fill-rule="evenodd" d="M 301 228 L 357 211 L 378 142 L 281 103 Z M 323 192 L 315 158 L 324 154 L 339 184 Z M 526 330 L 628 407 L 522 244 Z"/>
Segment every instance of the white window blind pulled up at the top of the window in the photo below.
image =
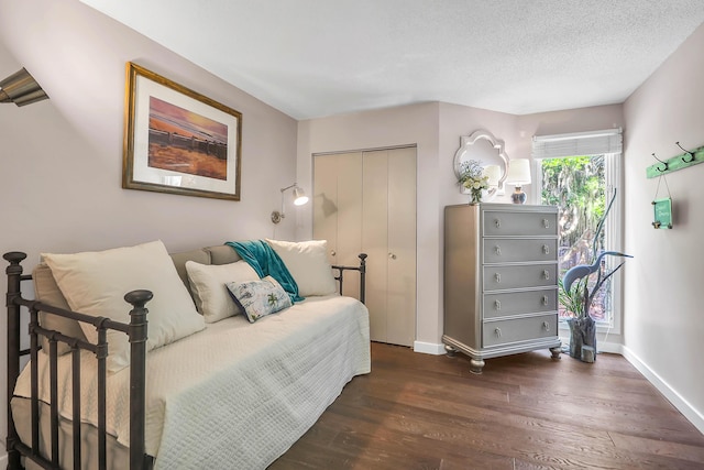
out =
<path fill-rule="evenodd" d="M 534 159 L 554 159 L 560 156 L 601 155 L 620 153 L 623 150 L 622 130 L 575 132 L 571 134 L 535 135 L 532 138 Z"/>

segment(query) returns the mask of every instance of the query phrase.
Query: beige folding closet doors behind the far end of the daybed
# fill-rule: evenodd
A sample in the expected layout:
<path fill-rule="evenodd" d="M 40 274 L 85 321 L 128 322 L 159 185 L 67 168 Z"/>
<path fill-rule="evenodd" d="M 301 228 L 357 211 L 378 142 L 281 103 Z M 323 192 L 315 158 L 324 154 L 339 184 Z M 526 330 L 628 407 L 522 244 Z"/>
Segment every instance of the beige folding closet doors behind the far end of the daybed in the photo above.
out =
<path fill-rule="evenodd" d="M 373 341 L 416 338 L 416 147 L 314 155 L 314 238 L 332 264 L 367 253 L 366 306 Z M 345 276 L 344 294 L 359 282 Z"/>

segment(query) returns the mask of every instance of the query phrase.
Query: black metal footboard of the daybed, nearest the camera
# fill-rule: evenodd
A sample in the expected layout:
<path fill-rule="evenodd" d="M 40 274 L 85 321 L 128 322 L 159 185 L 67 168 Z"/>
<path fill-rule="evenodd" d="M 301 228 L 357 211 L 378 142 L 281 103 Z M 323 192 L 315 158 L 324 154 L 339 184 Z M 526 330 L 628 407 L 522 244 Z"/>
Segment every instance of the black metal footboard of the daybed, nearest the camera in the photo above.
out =
<path fill-rule="evenodd" d="M 26 254 L 22 252 L 9 252 L 3 258 L 10 262 L 6 273 L 8 275 L 8 468 L 21 469 L 21 458 L 32 460 L 45 469 L 59 468 L 59 412 L 58 412 L 58 353 L 57 343 L 63 342 L 70 347 L 72 354 L 72 383 L 73 383 L 73 461 L 74 468 L 80 469 L 80 353 L 82 350 L 92 352 L 98 361 L 98 467 L 107 467 L 107 431 L 106 431 L 106 384 L 108 357 L 107 331 L 118 330 L 128 335 L 130 340 L 130 469 L 146 469 L 151 467 L 152 459 L 144 450 L 144 415 L 145 415 L 145 361 L 147 338 L 147 309 L 145 304 L 152 299 L 150 291 L 133 291 L 124 296 L 132 304 L 130 323 L 123 324 L 109 318 L 92 317 L 76 311 L 56 308 L 37 300 L 28 300 L 22 297 L 21 284 L 31 281 L 31 275 L 22 274 L 20 264 Z M 26 307 L 30 311 L 30 349 L 20 349 L 20 311 Z M 73 338 L 61 331 L 42 328 L 38 323 L 38 313 L 57 315 L 85 324 L 90 324 L 98 331 L 98 342 L 91 343 Z M 38 420 L 38 361 L 40 336 L 48 339 L 50 350 L 50 383 L 51 383 L 51 456 L 43 456 L 40 451 L 40 420 Z M 22 442 L 18 435 L 12 417 L 10 401 L 20 375 L 20 358 L 30 356 L 31 359 L 31 414 L 32 414 L 32 441 L 31 445 Z"/>

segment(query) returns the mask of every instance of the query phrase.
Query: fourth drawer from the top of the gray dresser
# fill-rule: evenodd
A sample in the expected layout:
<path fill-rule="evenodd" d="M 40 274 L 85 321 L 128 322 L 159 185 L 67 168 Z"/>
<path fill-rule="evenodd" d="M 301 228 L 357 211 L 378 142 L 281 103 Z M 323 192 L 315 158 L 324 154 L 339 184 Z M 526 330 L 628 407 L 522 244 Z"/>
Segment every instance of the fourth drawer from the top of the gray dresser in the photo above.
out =
<path fill-rule="evenodd" d="M 503 292 L 501 294 L 484 294 L 482 296 L 482 311 L 484 314 L 484 319 L 507 317 L 517 314 L 553 311 L 557 309 L 557 288 Z"/>

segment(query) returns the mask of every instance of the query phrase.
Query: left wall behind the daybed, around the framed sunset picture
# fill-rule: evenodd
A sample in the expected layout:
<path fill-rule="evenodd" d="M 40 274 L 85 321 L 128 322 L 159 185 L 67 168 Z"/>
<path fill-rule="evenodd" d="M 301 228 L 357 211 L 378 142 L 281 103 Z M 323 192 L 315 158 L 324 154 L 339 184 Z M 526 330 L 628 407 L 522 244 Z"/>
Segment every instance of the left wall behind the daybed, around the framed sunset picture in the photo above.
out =
<path fill-rule="evenodd" d="M 25 251 L 31 269 L 42 251 L 293 239 L 293 206 L 276 228 L 270 214 L 295 179 L 294 119 L 77 1 L 0 0 L 0 78 L 26 67 L 51 97 L 0 105 L 0 253 Z M 241 201 L 121 188 L 130 61 L 242 112 Z M 4 436 L 4 406 L 0 418 Z"/>

